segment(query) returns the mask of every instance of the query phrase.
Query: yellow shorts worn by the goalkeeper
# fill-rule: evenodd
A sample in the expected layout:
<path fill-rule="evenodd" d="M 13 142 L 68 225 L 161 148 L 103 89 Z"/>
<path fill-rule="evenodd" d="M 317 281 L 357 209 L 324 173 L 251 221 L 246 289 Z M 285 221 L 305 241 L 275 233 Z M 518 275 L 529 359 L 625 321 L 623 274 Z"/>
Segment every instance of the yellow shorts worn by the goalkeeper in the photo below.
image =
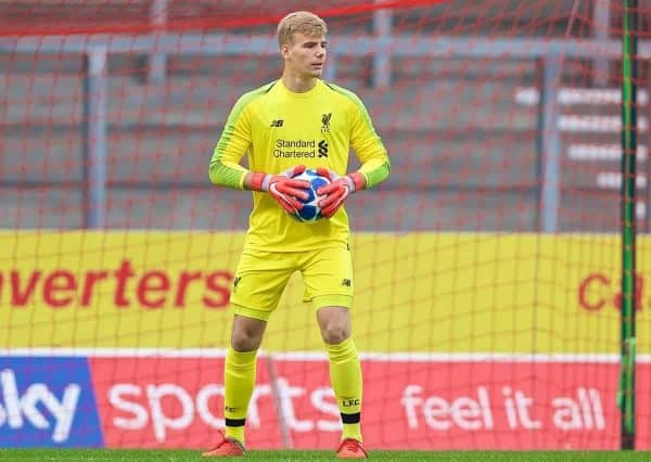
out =
<path fill-rule="evenodd" d="M 316 309 L 353 305 L 353 261 L 346 247 L 314 252 L 246 249 L 240 257 L 230 301 L 235 315 L 267 321 L 295 271 L 301 271 L 303 301 Z"/>

